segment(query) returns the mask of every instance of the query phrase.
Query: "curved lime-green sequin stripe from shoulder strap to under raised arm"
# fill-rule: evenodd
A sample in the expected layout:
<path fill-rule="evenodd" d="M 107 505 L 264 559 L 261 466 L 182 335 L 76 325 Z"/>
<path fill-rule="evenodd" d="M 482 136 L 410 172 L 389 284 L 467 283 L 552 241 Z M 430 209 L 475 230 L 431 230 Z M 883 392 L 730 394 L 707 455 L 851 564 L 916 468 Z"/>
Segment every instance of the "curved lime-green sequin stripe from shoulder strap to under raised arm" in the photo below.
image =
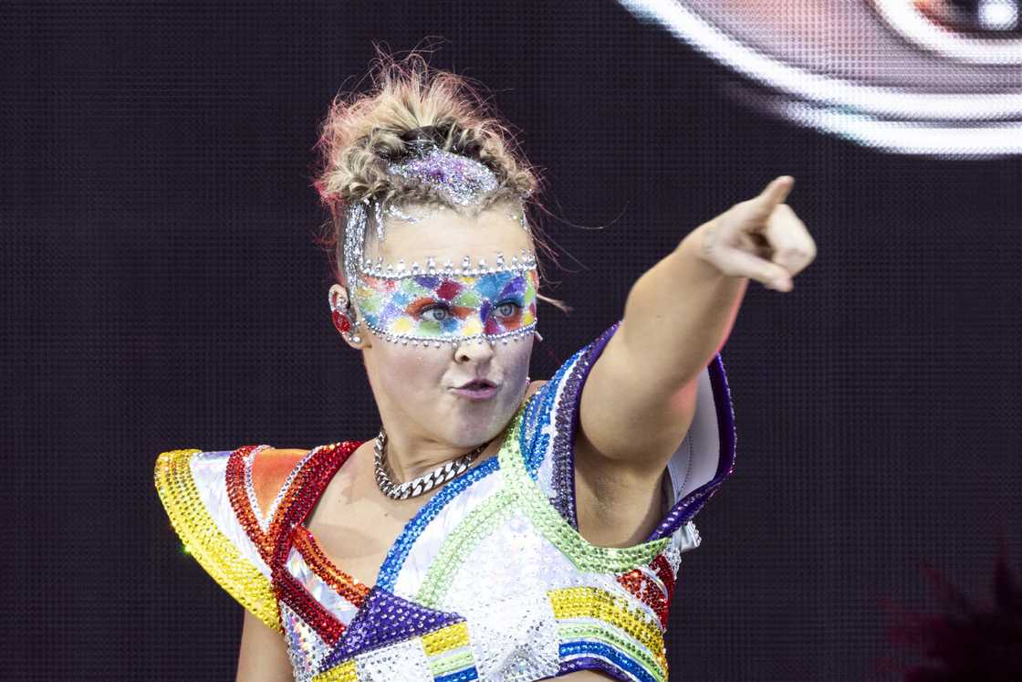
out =
<path fill-rule="evenodd" d="M 515 416 L 512 430 L 517 433 L 518 420 L 523 411 Z M 622 573 L 643 563 L 649 563 L 669 542 L 669 538 L 660 538 L 644 542 L 632 547 L 600 547 L 590 543 L 582 534 L 564 520 L 564 517 L 550 504 L 539 487 L 525 469 L 518 439 L 505 440 L 497 453 L 501 472 L 504 475 L 504 486 L 513 491 L 516 506 L 522 509 L 531 519 L 536 528 L 547 540 L 553 543 L 567 556 L 579 571 L 596 573 Z"/>

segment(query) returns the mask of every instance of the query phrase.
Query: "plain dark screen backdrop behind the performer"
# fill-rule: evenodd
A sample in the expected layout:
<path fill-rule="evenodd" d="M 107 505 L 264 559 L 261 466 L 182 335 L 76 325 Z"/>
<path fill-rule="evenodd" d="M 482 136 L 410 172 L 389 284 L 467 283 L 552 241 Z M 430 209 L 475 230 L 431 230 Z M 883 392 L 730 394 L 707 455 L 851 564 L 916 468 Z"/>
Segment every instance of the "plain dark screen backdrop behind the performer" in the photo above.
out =
<path fill-rule="evenodd" d="M 551 186 L 532 378 L 690 230 L 789 174 L 819 247 L 722 351 L 735 472 L 697 525 L 671 679 L 891 679 L 883 597 L 1022 564 L 1019 158 L 898 156 L 766 120 L 612 2 L 4 3 L 9 679 L 233 679 L 241 607 L 183 554 L 156 454 L 375 434 L 330 322 L 312 146 L 393 51 L 478 79 Z M 684 297 L 684 291 L 678 292 Z M 8 554 L 10 556 L 10 554 Z"/>

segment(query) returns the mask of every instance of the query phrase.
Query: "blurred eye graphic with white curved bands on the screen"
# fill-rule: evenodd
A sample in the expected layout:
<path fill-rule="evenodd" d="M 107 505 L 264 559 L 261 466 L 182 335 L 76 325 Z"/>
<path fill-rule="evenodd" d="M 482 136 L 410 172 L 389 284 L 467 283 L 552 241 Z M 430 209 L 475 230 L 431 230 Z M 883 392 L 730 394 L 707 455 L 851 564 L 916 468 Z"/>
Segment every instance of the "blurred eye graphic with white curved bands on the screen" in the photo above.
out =
<path fill-rule="evenodd" d="M 1022 27 L 983 34 L 981 0 L 620 1 L 742 76 L 725 92 L 764 113 L 890 153 L 1022 152 Z"/>

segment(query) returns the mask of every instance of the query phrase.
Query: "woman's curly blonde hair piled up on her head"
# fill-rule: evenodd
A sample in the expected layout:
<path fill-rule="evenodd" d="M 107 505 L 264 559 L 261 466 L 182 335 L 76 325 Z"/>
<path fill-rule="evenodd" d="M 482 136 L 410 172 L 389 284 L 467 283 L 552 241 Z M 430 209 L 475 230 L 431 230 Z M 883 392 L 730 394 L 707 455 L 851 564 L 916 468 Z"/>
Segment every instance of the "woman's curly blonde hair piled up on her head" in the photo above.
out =
<path fill-rule="evenodd" d="M 518 150 L 509 126 L 469 79 L 430 67 L 415 51 L 400 61 L 378 46 L 376 51 L 377 58 L 369 74 L 374 89 L 369 93 L 335 96 L 314 147 L 318 160 L 313 185 L 331 216 L 317 243 L 329 253 L 336 281 L 347 284 L 343 275 L 343 244 L 349 206 L 374 197 L 382 202 L 400 199 L 460 208 L 451 204 L 431 186 L 387 174 L 387 164 L 410 150 L 410 144 L 402 136 L 423 127 L 435 127 L 440 148 L 490 168 L 499 187 L 487 194 L 479 209 L 520 198 L 533 243 L 556 260 L 538 221 L 529 219 L 530 210 L 542 209 L 538 199 L 542 178 Z M 543 281 L 542 263 L 538 268 Z M 537 295 L 565 313 L 570 311 L 561 301 Z"/>

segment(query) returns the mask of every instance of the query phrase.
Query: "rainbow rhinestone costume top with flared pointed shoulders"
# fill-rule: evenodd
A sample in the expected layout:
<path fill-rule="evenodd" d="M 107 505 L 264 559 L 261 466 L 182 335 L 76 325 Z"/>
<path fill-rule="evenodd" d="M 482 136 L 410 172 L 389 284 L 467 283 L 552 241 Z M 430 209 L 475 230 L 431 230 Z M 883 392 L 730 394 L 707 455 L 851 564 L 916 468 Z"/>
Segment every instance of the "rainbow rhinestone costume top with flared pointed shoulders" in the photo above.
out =
<path fill-rule="evenodd" d="M 165 452 L 159 498 L 199 564 L 285 638 L 296 680 L 510 682 L 593 669 L 661 682 L 681 554 L 700 544 L 692 518 L 733 470 L 734 415 L 716 355 L 667 465 L 662 520 L 631 547 L 585 540 L 571 444 L 582 387 L 619 324 L 519 408 L 497 455 L 409 520 L 374 586 L 334 565 L 303 525 L 361 441 L 300 455 Z"/>

